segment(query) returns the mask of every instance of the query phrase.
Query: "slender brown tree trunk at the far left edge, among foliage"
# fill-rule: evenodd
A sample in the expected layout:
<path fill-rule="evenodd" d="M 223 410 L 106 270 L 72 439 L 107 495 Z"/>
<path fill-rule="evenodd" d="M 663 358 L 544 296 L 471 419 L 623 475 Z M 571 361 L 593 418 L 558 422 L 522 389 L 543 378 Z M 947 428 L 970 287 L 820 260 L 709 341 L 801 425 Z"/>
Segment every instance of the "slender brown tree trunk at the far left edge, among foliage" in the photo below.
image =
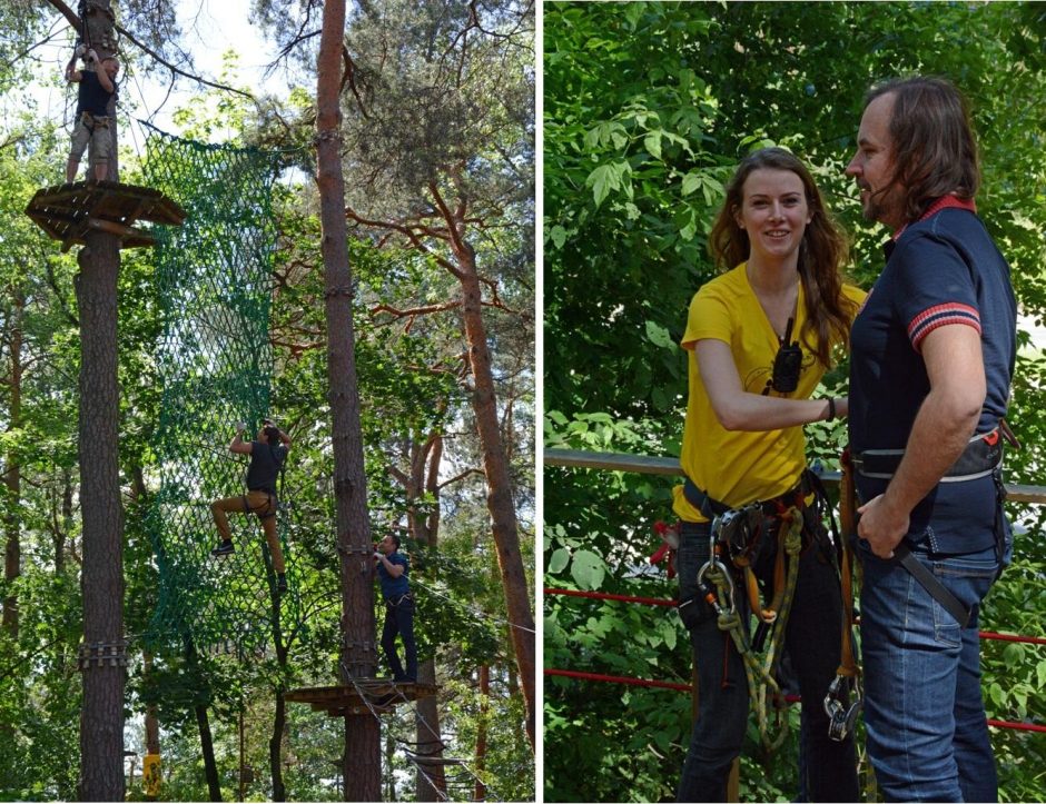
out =
<path fill-rule="evenodd" d="M 26 297 L 21 289 L 13 294 L 13 315 L 11 330 L 8 335 L 8 348 L 11 353 L 11 373 L 8 375 L 10 389 L 8 430 L 17 430 L 22 426 L 22 314 L 26 309 Z M 3 530 L 7 545 L 3 550 L 3 579 L 12 584 L 22 572 L 22 540 L 19 520 L 19 507 L 22 498 L 22 468 L 16 450 L 9 449 L 4 456 L 7 469 L 3 473 L 6 490 Z M 11 587 L 8 586 L 10 589 Z M 2 628 L 13 641 L 18 639 L 18 595 L 11 592 L 3 598 Z"/>

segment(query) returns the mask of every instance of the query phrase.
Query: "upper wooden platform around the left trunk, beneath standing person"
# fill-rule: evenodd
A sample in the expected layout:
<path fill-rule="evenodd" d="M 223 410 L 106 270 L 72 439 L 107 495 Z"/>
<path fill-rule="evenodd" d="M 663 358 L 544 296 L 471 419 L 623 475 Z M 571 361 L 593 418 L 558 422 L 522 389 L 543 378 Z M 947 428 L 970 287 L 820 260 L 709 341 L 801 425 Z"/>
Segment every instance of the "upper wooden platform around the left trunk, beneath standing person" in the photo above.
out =
<path fill-rule="evenodd" d="M 91 231 L 108 231 L 120 238 L 120 248 L 151 246 L 150 231 L 140 220 L 181 226 L 186 214 L 159 190 L 116 181 L 77 181 L 37 190 L 26 215 L 55 240 L 61 250 L 85 245 Z"/>

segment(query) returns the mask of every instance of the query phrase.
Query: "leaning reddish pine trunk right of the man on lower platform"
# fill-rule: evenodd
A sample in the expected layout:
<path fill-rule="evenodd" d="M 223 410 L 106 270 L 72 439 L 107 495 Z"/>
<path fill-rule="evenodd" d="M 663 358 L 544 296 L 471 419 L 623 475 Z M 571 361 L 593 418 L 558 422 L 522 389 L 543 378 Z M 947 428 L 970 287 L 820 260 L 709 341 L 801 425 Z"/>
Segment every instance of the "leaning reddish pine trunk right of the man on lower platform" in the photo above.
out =
<path fill-rule="evenodd" d="M 475 381 L 473 410 L 483 448 L 483 470 L 486 474 L 487 484 L 486 505 L 491 513 L 497 565 L 501 568 L 502 585 L 505 589 L 509 621 L 513 624 L 512 645 L 515 649 L 526 708 L 526 736 L 533 751 L 535 746 L 534 672 L 536 667 L 534 616 L 531 613 L 529 584 L 520 552 L 520 534 L 512 499 L 509 465 L 497 421 L 497 397 L 491 370 L 486 327 L 481 312 L 482 291 L 480 277 L 476 274 L 475 251 L 468 244 L 463 244 L 463 246 L 464 248 L 455 251 L 455 257 L 460 268 L 468 359 Z"/>

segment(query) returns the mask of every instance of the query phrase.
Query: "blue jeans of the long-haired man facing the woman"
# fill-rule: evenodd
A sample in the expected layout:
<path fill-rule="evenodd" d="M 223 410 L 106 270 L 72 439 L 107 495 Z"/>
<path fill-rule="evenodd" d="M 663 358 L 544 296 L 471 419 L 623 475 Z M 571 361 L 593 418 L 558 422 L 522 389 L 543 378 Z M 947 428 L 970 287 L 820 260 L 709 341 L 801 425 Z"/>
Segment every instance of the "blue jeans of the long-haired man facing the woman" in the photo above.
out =
<path fill-rule="evenodd" d="M 868 756 L 887 801 L 994 802 L 998 777 L 980 695 L 979 604 L 995 548 L 912 555 L 970 609 L 965 628 L 892 560 L 860 540 Z"/>

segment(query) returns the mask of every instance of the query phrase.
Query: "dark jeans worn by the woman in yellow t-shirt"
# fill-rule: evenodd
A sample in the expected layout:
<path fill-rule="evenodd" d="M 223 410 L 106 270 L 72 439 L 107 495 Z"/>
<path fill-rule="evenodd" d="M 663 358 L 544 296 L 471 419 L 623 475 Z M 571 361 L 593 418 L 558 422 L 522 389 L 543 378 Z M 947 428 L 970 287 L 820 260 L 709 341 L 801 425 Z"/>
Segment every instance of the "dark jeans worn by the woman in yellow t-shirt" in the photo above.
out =
<path fill-rule="evenodd" d="M 698 570 L 708 560 L 709 524 L 683 523 L 677 555 L 680 598 L 697 592 Z M 773 535 L 776 543 L 776 534 Z M 772 583 L 773 562 L 761 556 L 756 574 Z M 820 546 L 807 544 L 799 558 L 799 576 L 784 632 L 784 651 L 802 695 L 803 767 L 801 786 L 810 801 L 856 802 L 857 755 L 853 737 L 836 742 L 828 736 L 825 695 L 839 667 L 842 603 L 833 563 Z M 747 621 L 749 605 L 743 586 L 738 612 Z M 690 631 L 698 672 L 698 717 L 679 783 L 680 802 L 727 801 L 730 765 L 741 753 L 748 723 L 749 691 L 744 666 L 733 639 L 719 629 L 714 609 L 700 598 Z"/>

